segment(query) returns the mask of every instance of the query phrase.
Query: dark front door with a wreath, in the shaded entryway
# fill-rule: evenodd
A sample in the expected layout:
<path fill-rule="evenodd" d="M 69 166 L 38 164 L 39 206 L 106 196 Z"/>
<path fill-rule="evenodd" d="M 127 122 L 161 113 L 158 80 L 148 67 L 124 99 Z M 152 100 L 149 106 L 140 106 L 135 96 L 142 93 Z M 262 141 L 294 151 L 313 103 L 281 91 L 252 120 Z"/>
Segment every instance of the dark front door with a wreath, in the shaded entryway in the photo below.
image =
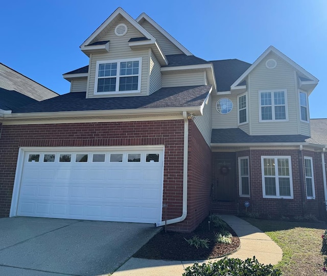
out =
<path fill-rule="evenodd" d="M 216 193 L 217 201 L 236 200 L 235 156 L 226 156 L 216 162 Z"/>

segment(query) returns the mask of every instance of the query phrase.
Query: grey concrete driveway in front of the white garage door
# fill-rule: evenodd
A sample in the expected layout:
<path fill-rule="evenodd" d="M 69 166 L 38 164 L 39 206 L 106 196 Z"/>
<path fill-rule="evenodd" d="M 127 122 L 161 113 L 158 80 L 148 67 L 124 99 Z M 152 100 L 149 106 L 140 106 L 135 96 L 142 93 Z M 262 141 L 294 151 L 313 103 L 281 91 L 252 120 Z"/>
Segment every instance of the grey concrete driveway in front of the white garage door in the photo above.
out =
<path fill-rule="evenodd" d="M 0 275 L 107 275 L 160 229 L 152 224 L 0 219 Z"/>

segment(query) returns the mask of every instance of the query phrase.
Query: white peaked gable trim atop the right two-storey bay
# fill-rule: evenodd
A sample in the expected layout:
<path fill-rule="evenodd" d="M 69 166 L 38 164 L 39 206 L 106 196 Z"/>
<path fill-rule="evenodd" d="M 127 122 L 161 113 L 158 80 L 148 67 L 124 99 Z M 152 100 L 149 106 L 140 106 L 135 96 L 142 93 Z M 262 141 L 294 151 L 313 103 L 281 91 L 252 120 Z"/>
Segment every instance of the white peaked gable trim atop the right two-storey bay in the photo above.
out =
<path fill-rule="evenodd" d="M 308 71 L 300 67 L 297 63 L 295 63 L 292 59 L 284 55 L 281 51 L 278 51 L 275 47 L 270 46 L 268 49 L 258 58 L 253 64 L 231 85 L 231 89 L 236 89 L 237 86 L 252 72 L 252 70 L 269 54 L 274 53 L 287 63 L 292 66 L 296 71 L 300 72 L 306 78 L 313 80 L 315 83 L 318 83 L 318 79 L 311 75 Z"/>

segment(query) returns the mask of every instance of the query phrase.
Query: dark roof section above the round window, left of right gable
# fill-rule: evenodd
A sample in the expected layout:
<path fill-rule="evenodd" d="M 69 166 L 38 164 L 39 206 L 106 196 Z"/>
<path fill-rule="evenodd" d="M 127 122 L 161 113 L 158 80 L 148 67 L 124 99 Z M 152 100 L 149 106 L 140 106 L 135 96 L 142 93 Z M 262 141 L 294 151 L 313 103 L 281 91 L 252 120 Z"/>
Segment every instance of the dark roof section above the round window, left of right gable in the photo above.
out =
<path fill-rule="evenodd" d="M 239 59 L 211 61 L 214 65 L 217 92 L 230 91 L 231 85 L 251 66 Z"/>

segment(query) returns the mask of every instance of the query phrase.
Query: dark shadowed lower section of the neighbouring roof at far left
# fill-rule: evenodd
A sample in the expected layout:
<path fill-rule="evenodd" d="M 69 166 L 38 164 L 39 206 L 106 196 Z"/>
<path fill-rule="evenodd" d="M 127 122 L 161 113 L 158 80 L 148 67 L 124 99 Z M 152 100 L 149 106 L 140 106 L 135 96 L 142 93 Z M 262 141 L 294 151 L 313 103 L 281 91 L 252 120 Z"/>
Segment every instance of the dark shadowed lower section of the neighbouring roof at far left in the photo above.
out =
<path fill-rule="evenodd" d="M 22 105 L 38 102 L 24 94 L 0 88 L 0 109 L 12 110 Z"/>

